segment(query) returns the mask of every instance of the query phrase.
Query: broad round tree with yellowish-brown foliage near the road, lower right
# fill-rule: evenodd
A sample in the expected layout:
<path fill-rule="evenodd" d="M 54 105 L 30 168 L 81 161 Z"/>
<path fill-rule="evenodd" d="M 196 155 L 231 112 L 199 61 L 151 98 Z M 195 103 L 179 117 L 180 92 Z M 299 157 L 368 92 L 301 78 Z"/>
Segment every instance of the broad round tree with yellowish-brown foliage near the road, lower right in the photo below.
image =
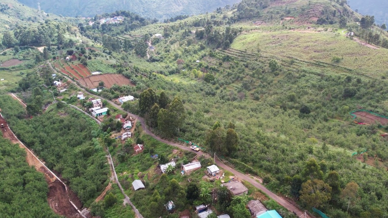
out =
<path fill-rule="evenodd" d="M 300 200 L 309 208 L 320 207 L 331 199 L 331 187 L 322 180 L 307 180 L 302 184 Z"/>

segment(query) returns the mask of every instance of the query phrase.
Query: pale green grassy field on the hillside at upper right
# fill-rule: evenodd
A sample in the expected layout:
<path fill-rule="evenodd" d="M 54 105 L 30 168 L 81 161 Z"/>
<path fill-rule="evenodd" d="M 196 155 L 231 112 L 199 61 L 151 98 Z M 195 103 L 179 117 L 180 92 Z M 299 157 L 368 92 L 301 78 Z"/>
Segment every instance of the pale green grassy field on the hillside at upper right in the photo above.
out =
<path fill-rule="evenodd" d="M 314 31 L 274 31 L 249 33 L 236 38 L 231 46 L 281 57 L 294 57 L 305 61 L 333 63 L 340 57 L 338 66 L 358 70 L 369 76 L 386 76 L 388 50 L 372 49 L 338 33 Z"/>

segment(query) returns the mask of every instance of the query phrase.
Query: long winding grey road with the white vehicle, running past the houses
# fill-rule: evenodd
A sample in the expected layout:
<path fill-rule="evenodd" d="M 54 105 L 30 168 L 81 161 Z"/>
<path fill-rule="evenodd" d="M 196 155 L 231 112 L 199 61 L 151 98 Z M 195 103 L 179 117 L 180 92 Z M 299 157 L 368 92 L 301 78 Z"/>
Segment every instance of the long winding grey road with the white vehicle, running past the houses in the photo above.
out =
<path fill-rule="evenodd" d="M 48 61 L 47 61 L 48 62 Z M 49 63 L 49 62 L 48 62 Z M 51 64 L 49 63 L 50 67 L 52 68 Z M 54 70 L 54 68 L 52 68 Z M 55 70 L 54 70 L 55 71 Z M 70 80 L 70 78 L 68 78 Z M 74 82 L 73 80 L 70 80 L 72 81 L 77 87 L 79 87 L 81 90 L 87 92 L 84 88 L 80 87 L 76 82 Z M 96 98 L 100 98 L 100 99 L 103 99 L 102 97 L 100 96 L 97 96 L 97 95 L 94 95 L 92 93 L 89 93 L 90 95 L 93 95 L 94 97 Z M 107 100 L 107 99 L 105 99 Z M 147 128 L 147 126 L 145 125 L 145 122 L 144 122 L 144 119 L 137 116 L 136 114 L 132 114 L 128 111 L 125 111 L 121 106 L 118 106 L 117 104 L 115 104 L 114 102 L 110 101 L 110 100 L 107 100 L 113 107 L 116 107 L 117 109 L 123 111 L 123 112 L 127 112 L 130 116 L 132 116 L 133 118 L 136 118 L 138 121 L 140 121 L 140 123 L 142 124 L 142 128 L 143 130 L 145 131 L 145 133 L 147 133 L 148 135 L 151 135 L 152 138 L 155 138 L 156 140 L 160 141 L 160 142 L 164 142 L 168 145 L 172 145 L 174 147 L 178 147 L 182 150 L 185 150 L 185 151 L 190 151 L 190 152 L 194 152 L 196 153 L 197 155 L 201 156 L 201 155 L 204 155 L 205 157 L 210 157 L 208 154 L 206 153 L 203 153 L 201 151 L 194 151 L 192 149 L 190 149 L 189 147 L 186 147 L 184 145 L 181 145 L 181 144 L 178 144 L 178 143 L 175 143 L 175 142 L 171 142 L 171 141 L 168 141 L 168 140 L 165 140 L 163 138 L 160 138 L 159 136 L 155 135 L 154 133 L 152 133 L 151 130 L 149 130 L 149 128 Z M 254 180 L 253 178 L 251 178 L 250 176 L 247 176 L 243 173 L 240 173 L 239 171 L 237 170 L 234 170 L 232 168 L 230 168 L 230 166 L 226 166 L 224 163 L 222 163 L 220 160 L 218 159 L 215 159 L 215 162 L 218 166 L 220 166 L 221 168 L 223 169 L 227 169 L 229 170 L 230 172 L 232 172 L 234 175 L 236 175 L 237 177 L 239 177 L 240 179 L 242 180 L 245 180 L 249 183 L 251 183 L 253 186 L 255 186 L 257 189 L 260 189 L 262 190 L 265 194 L 267 194 L 269 197 L 271 197 L 272 199 L 274 199 L 277 203 L 279 203 L 281 206 L 287 208 L 291 213 L 293 211 L 295 211 L 299 217 L 301 218 L 313 218 L 313 216 L 309 216 L 309 215 L 306 215 L 305 216 L 305 213 L 304 211 L 300 210 L 297 206 L 294 206 L 294 204 L 292 204 L 291 202 L 287 201 L 286 199 L 282 198 L 281 196 L 278 196 L 277 194 L 271 192 L 269 189 L 267 189 L 266 187 L 264 187 L 262 184 L 260 184 L 259 182 L 257 182 L 256 180 Z"/>

